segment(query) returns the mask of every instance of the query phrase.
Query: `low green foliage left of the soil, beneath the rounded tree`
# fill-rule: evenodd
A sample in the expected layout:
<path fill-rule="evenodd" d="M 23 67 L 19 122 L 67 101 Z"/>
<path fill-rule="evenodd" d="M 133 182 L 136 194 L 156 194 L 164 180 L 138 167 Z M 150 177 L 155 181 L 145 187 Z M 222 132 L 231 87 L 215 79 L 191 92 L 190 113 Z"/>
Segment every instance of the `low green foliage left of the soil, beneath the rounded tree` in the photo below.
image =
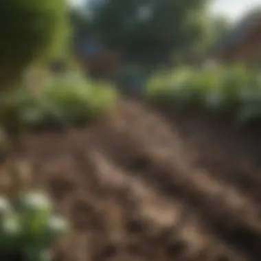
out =
<path fill-rule="evenodd" d="M 2 95 L 0 122 L 11 133 L 81 124 L 106 112 L 116 97 L 109 84 L 67 73 L 50 78 L 38 93 L 21 86 Z"/>

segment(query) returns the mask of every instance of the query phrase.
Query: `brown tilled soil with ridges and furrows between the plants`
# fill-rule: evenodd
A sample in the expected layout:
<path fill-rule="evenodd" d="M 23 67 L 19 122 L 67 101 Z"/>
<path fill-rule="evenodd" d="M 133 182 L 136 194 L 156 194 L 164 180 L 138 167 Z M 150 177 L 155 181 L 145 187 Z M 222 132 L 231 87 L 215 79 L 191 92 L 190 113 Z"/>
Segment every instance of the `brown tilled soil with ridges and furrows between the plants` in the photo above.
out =
<path fill-rule="evenodd" d="M 1 177 L 30 163 L 71 220 L 58 261 L 259 261 L 261 137 L 249 133 L 124 101 L 91 127 L 25 135 Z"/>

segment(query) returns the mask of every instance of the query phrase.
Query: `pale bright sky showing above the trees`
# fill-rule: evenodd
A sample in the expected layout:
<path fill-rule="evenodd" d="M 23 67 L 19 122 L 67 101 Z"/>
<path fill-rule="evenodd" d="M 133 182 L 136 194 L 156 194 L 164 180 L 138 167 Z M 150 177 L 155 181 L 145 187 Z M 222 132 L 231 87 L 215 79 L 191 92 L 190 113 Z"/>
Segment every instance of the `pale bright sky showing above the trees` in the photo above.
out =
<path fill-rule="evenodd" d="M 80 5 L 84 0 L 69 1 L 71 1 L 73 5 Z M 210 10 L 214 14 L 225 14 L 225 16 L 235 21 L 244 14 L 244 12 L 256 5 L 261 6 L 261 0 L 214 0 L 210 6 Z"/>

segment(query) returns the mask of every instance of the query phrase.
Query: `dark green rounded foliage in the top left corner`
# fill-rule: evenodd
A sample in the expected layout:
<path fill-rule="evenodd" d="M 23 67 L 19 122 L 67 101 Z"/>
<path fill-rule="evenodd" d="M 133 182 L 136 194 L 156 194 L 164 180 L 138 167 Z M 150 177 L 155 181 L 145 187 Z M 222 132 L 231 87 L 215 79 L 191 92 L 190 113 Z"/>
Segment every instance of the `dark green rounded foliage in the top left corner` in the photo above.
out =
<path fill-rule="evenodd" d="M 33 60 L 57 51 L 66 34 L 66 8 L 65 0 L 1 1 L 1 89 L 13 84 Z"/>

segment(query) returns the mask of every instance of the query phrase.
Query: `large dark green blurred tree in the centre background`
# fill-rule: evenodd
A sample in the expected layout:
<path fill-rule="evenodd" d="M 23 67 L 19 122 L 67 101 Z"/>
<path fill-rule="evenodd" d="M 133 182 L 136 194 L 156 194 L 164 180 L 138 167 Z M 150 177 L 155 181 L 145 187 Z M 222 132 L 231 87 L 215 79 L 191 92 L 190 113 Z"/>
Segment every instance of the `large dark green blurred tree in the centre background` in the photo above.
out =
<path fill-rule="evenodd" d="M 207 0 L 89 0 L 95 31 L 107 46 L 129 57 L 168 59 L 187 52 L 204 37 Z M 90 6 L 91 4 L 91 6 Z"/>

